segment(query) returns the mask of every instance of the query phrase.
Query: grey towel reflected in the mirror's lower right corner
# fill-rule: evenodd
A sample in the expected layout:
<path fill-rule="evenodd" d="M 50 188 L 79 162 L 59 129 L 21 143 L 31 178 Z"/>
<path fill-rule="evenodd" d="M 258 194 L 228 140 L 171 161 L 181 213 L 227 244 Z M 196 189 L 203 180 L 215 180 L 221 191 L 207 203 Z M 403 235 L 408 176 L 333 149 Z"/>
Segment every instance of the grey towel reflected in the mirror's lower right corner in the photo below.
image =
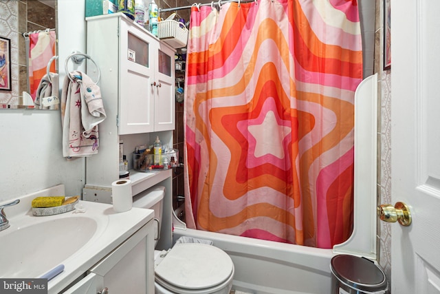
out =
<path fill-rule="evenodd" d="M 38 109 L 58 109 L 60 99 L 58 98 L 58 74 L 50 72 L 50 79 L 47 74 L 41 78 L 39 87 L 36 89 L 35 107 Z"/>

